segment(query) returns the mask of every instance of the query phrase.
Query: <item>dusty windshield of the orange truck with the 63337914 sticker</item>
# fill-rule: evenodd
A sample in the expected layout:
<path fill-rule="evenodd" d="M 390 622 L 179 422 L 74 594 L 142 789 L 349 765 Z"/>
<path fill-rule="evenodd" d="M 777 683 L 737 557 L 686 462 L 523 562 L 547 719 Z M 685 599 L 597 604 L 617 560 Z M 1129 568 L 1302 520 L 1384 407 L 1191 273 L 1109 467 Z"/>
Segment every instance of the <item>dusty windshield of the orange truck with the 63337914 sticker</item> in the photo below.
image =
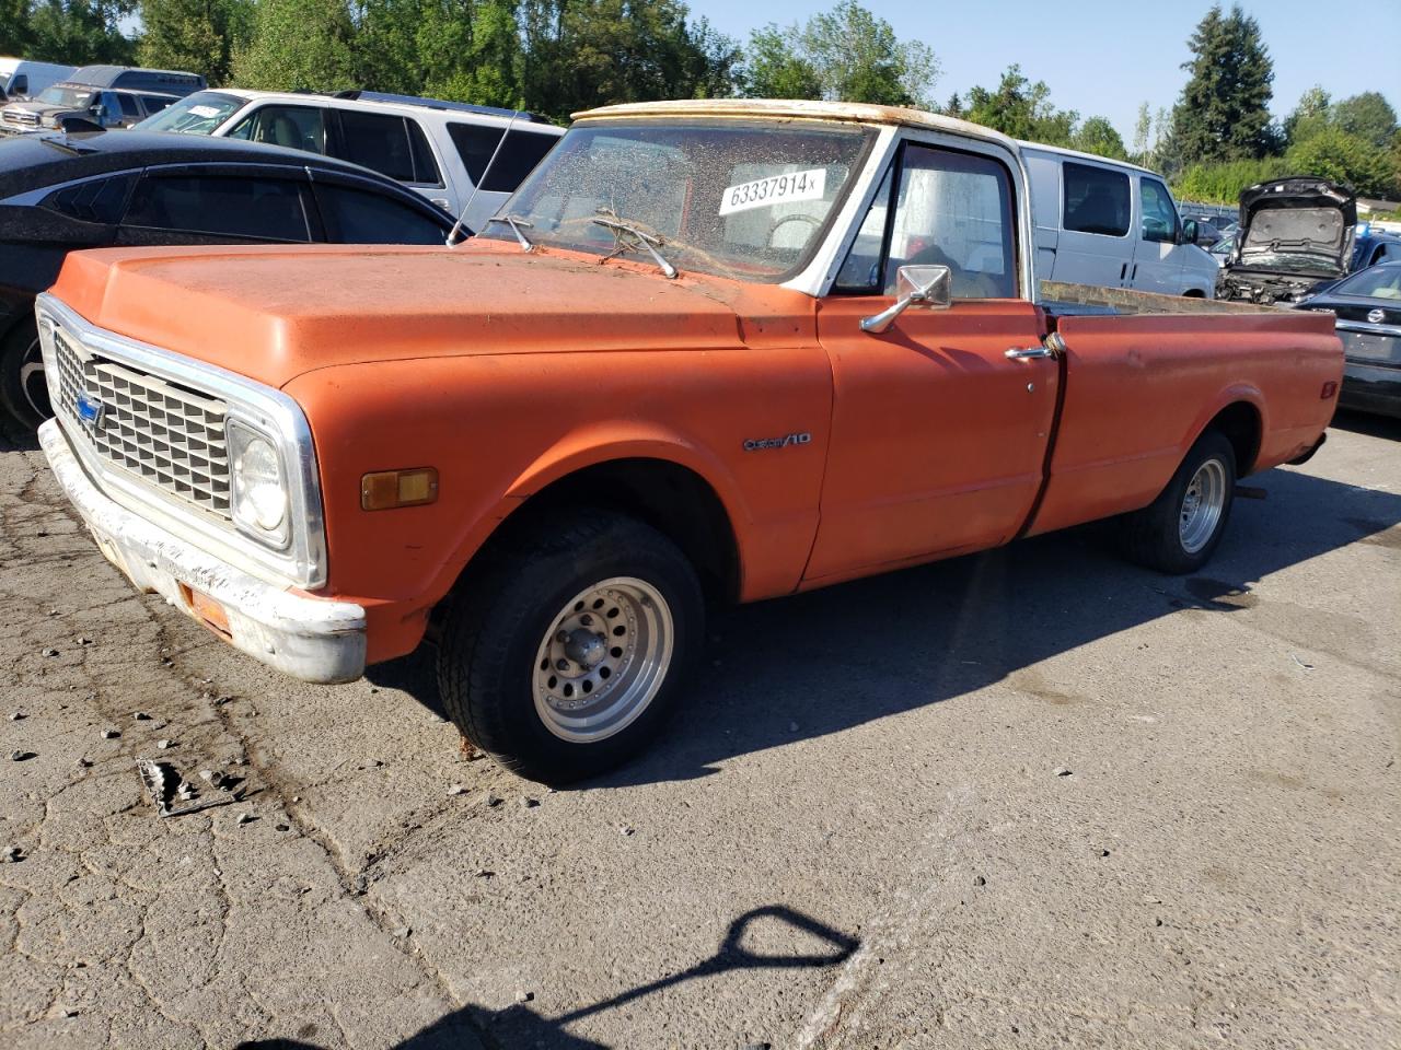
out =
<path fill-rule="evenodd" d="M 621 223 L 656 238 L 681 270 L 783 280 L 820 242 L 871 139 L 807 122 L 576 127 L 500 214 L 521 220 L 537 244 L 650 259 Z M 504 223 L 481 235 L 516 238 Z"/>

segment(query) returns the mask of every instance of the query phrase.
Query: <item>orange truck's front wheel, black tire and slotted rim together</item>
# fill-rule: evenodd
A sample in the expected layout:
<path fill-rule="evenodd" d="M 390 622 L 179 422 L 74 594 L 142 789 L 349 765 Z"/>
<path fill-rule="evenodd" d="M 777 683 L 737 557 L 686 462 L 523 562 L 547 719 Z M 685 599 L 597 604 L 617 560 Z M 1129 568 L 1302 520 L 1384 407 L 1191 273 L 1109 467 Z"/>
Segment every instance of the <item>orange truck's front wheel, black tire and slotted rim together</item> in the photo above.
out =
<path fill-rule="evenodd" d="M 705 637 L 685 554 L 640 521 L 580 511 L 483 557 L 443 623 L 437 676 L 453 721 L 506 769 L 549 784 L 636 755 Z"/>

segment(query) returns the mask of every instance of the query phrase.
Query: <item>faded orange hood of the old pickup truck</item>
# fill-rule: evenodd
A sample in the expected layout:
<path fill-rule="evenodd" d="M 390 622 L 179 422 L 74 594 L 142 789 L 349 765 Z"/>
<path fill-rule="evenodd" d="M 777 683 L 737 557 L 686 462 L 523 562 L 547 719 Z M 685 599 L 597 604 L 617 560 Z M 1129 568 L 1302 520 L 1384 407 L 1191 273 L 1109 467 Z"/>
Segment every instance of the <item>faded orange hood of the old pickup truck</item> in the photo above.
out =
<path fill-rule="evenodd" d="M 786 288 L 486 241 L 74 252 L 52 293 L 98 328 L 270 386 L 360 361 L 793 346 L 814 330 L 811 300 Z"/>

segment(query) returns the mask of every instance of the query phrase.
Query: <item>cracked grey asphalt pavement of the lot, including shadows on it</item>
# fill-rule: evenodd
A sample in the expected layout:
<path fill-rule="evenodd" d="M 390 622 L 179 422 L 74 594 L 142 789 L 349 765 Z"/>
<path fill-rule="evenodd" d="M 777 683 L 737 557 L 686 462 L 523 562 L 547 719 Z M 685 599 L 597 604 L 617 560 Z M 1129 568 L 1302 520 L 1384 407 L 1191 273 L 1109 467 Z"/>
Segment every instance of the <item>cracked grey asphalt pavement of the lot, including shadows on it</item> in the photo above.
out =
<path fill-rule="evenodd" d="M 10 441 L 0 1043 L 1401 1046 L 1401 426 L 1245 484 L 1196 577 L 1090 526 L 727 612 L 548 791 L 426 654 L 307 686 L 136 595 Z"/>

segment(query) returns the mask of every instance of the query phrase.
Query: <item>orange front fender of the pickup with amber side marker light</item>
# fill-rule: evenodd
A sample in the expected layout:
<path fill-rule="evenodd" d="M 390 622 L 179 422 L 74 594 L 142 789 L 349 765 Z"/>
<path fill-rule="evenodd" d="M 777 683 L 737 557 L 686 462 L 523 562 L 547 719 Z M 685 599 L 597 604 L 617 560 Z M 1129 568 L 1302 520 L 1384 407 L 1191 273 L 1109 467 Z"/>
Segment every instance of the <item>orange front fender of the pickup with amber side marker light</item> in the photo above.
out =
<path fill-rule="evenodd" d="M 789 342 L 419 358 L 297 377 L 286 391 L 311 421 L 322 476 L 322 594 L 366 606 L 371 662 L 408 652 L 467 561 L 531 494 L 630 458 L 679 463 L 716 491 L 743 599 L 794 589 L 817 529 L 831 370 L 815 339 Z M 744 451 L 747 438 L 789 433 L 811 441 Z M 415 466 L 439 469 L 436 504 L 360 508 L 366 472 Z"/>

